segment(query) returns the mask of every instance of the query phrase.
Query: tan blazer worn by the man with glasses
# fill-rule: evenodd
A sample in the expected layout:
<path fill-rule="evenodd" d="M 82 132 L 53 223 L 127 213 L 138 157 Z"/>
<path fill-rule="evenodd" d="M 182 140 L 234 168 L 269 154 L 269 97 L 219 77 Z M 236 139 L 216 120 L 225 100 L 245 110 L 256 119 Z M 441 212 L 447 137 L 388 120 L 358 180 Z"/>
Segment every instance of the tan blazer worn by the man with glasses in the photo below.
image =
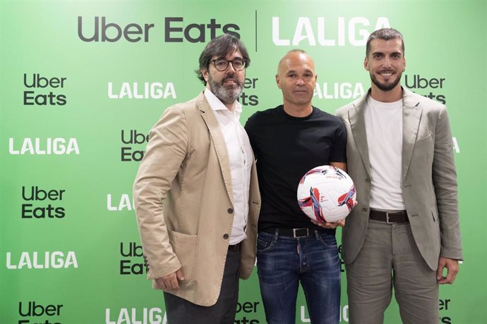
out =
<path fill-rule="evenodd" d="M 234 220 L 232 175 L 227 147 L 217 119 L 200 93 L 167 108 L 152 127 L 133 184 L 140 239 L 148 278 L 182 268 L 177 292 L 194 304 L 217 301 Z M 251 170 L 246 235 L 239 275 L 248 278 L 255 263 L 260 194 Z"/>

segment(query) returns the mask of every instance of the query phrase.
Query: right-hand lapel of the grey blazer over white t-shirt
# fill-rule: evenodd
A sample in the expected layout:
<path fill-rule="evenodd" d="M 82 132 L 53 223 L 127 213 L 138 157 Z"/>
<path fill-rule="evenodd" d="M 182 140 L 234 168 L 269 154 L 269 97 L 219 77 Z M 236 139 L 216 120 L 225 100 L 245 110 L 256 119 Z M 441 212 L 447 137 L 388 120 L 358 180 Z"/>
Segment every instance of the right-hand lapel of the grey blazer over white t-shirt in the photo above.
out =
<path fill-rule="evenodd" d="M 402 180 L 407 175 L 423 109 L 408 89 L 402 89 Z"/>

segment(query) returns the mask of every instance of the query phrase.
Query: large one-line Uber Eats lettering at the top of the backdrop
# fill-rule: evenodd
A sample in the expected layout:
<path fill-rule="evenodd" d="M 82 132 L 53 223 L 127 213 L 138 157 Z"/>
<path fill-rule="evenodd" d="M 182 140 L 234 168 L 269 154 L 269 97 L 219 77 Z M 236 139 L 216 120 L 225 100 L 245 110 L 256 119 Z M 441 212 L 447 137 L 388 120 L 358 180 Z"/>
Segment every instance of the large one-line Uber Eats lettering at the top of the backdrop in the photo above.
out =
<path fill-rule="evenodd" d="M 83 18 L 78 16 L 78 37 L 83 42 L 149 42 L 154 23 L 114 23 L 106 17 Z M 164 42 L 205 43 L 220 35 L 231 34 L 240 38 L 239 25 L 222 24 L 216 18 L 191 22 L 183 17 L 164 18 Z"/>

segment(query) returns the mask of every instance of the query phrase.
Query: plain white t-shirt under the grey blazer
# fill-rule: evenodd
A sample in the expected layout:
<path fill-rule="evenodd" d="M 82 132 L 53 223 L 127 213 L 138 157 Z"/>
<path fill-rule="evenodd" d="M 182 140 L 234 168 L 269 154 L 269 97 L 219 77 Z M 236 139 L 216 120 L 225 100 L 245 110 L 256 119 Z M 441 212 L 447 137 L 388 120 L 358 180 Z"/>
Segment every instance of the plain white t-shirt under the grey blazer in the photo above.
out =
<path fill-rule="evenodd" d="M 364 111 L 371 161 L 370 207 L 404 210 L 402 194 L 402 99 L 380 102 L 368 96 Z"/>

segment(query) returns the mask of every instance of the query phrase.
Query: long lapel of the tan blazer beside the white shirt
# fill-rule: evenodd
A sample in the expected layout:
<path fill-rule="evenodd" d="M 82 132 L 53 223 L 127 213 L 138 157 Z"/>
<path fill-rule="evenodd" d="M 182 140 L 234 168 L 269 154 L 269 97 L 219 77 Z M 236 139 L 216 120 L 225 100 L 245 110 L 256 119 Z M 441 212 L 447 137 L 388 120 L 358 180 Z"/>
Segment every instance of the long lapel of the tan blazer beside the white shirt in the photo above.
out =
<path fill-rule="evenodd" d="M 229 156 L 227 151 L 227 144 L 225 144 L 225 139 L 223 138 L 222 130 L 220 130 L 220 125 L 218 120 L 213 113 L 210 104 L 205 98 L 203 92 L 196 99 L 196 104 L 200 109 L 201 117 L 208 127 L 208 132 L 210 132 L 210 137 L 215 147 L 215 152 L 217 154 L 218 162 L 220 163 L 220 170 L 222 170 L 223 180 L 225 182 L 225 187 L 227 187 L 227 194 L 230 197 L 232 204 L 234 203 L 233 190 L 232 190 L 232 173 L 230 171 Z"/>

